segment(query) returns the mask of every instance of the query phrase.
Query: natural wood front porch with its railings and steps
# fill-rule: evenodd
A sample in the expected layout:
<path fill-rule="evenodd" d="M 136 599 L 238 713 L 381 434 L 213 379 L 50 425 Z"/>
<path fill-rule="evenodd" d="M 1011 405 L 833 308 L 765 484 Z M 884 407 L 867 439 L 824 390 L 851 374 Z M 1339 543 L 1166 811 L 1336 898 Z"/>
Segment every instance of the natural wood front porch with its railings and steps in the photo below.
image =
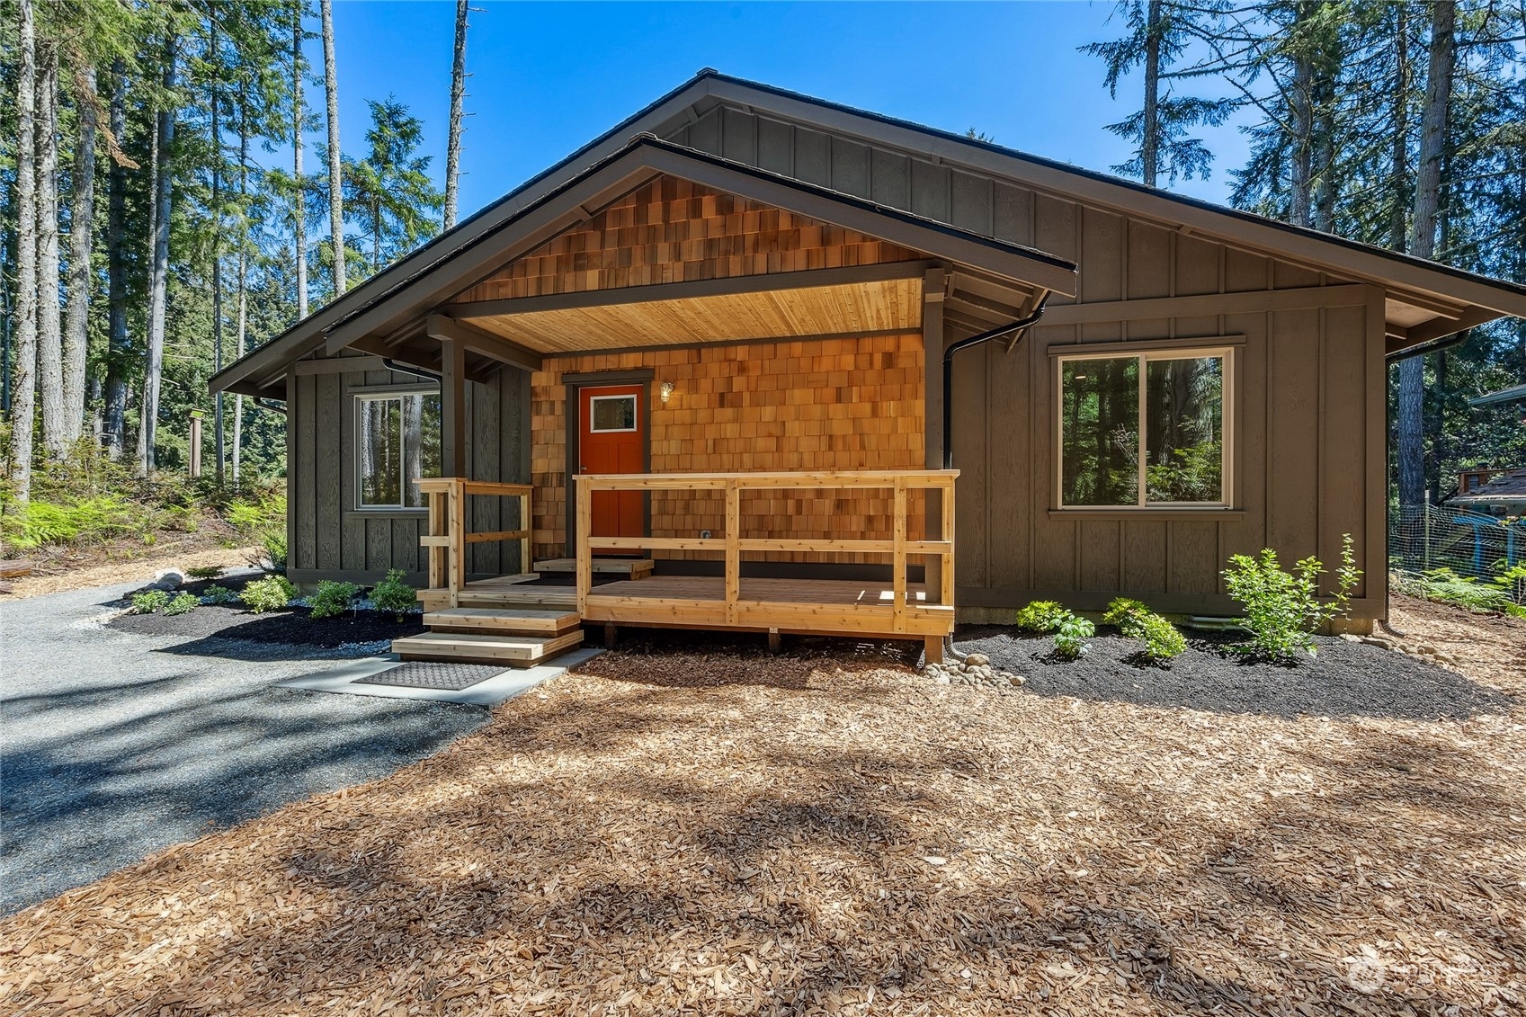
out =
<path fill-rule="evenodd" d="M 575 586 L 548 585 L 537 573 L 468 580 L 467 548 L 484 541 L 528 541 L 528 528 L 472 533 L 467 499 L 513 498 L 531 519 L 534 490 L 464 478 L 426 479 L 430 588 L 423 591 L 430 632 L 398 640 L 404 658 L 447 657 L 530 666 L 581 643 L 583 626 L 671 626 L 810 635 L 920 638 L 929 661 L 954 631 L 954 481 L 957 470 L 832 470 L 757 473 L 597 473 L 572 481 Z M 597 498 L 638 493 L 717 504 L 719 536 L 594 533 Z M 858 505 L 852 533 L 792 536 L 786 519 L 755 512 L 777 498 Z M 758 504 L 746 504 L 748 501 Z M 884 512 L 873 512 L 876 507 Z M 749 512 L 743 512 L 743 508 Z M 671 507 L 670 507 L 671 508 Z M 873 512 L 865 516 L 864 512 Z M 650 515 L 650 512 L 649 512 Z M 789 515 L 789 513 L 786 513 Z M 745 522 L 746 521 L 746 522 Z M 845 528 L 845 527 L 844 527 Z M 604 554 L 641 557 L 653 568 L 633 579 L 595 582 Z M 682 554 L 684 557 L 659 557 Z M 757 574 L 781 557 L 792 576 Z M 833 574 L 853 559 L 856 574 Z M 528 560 L 523 557 L 520 560 Z M 719 567 L 719 568 L 716 568 Z M 705 574 L 708 571 L 719 574 Z M 751 573 L 751 574 L 749 574 Z M 914 579 L 920 573 L 920 579 Z"/>

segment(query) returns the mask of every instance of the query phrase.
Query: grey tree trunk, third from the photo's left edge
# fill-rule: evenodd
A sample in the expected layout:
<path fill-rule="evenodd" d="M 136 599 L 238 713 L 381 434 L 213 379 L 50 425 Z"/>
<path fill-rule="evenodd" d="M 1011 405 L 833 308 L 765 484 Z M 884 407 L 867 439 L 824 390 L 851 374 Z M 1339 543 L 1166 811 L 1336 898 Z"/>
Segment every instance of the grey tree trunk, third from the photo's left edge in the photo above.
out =
<path fill-rule="evenodd" d="M 79 137 L 75 142 L 73 200 L 69 206 L 69 305 L 64 312 L 64 423 L 70 443 L 84 432 L 85 353 L 90 342 L 90 252 L 95 247 L 95 67 L 78 75 L 81 95 L 75 102 Z"/>

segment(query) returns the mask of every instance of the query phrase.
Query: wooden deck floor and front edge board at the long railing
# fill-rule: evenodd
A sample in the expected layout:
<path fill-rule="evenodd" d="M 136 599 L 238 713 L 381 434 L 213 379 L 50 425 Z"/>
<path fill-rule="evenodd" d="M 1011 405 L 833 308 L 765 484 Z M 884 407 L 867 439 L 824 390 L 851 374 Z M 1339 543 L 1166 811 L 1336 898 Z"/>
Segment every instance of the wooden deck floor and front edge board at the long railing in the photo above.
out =
<path fill-rule="evenodd" d="M 583 620 L 823 635 L 928 637 L 954 631 L 954 608 L 928 603 L 922 583 L 906 585 L 899 631 L 896 614 L 891 583 L 743 577 L 728 614 L 722 576 L 650 576 L 594 586 Z"/>

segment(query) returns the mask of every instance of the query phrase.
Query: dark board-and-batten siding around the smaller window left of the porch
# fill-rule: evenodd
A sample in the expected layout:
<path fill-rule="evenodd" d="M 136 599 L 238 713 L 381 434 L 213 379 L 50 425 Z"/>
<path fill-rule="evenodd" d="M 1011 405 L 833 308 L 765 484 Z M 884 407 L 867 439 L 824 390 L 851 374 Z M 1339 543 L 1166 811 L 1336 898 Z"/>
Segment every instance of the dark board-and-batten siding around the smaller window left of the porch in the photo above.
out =
<path fill-rule="evenodd" d="M 356 508 L 354 396 L 378 385 L 429 386 L 430 382 L 400 371 L 346 371 L 343 359 L 299 360 L 287 377 L 287 576 L 296 583 L 322 579 L 374 583 L 388 570 L 401 568 L 410 585 L 423 586 L 427 553 L 418 538 L 426 531 L 427 515 Z M 502 368 L 487 383 L 467 382 L 465 389 L 467 475 L 528 483 L 530 374 Z M 514 499 L 473 496 L 467 510 L 476 531 L 519 527 Z M 468 553 L 472 576 L 525 571 L 517 542 L 482 542 Z"/>

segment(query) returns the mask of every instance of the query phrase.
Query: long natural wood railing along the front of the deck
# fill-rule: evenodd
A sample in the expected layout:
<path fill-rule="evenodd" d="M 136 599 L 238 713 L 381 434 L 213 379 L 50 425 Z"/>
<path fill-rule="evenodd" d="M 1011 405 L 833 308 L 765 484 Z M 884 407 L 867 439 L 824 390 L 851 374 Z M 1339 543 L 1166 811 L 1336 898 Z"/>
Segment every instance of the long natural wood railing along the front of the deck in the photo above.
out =
<path fill-rule="evenodd" d="M 958 470 L 833 470 L 800 473 L 586 473 L 577 481 L 577 594 L 578 611 L 586 612 L 594 585 L 594 551 L 719 551 L 725 556 L 725 623 L 739 625 L 737 603 L 742 589 L 742 554 L 758 551 L 816 551 L 829 554 L 888 554 L 891 559 L 891 625 L 906 632 L 906 559 L 931 556 L 928 600 L 954 603 L 954 479 Z M 881 489 L 893 492 L 891 538 L 746 538 L 740 533 L 742 492 L 746 490 L 847 490 Z M 595 536 L 592 533 L 594 492 L 687 490 L 723 492 L 725 527 L 713 538 Z M 914 539 L 908 533 L 908 502 L 913 490 L 938 492 L 937 539 Z M 931 499 L 929 499 L 931 501 Z M 929 519 L 932 505 L 928 505 Z M 934 589 L 937 591 L 934 594 Z"/>

